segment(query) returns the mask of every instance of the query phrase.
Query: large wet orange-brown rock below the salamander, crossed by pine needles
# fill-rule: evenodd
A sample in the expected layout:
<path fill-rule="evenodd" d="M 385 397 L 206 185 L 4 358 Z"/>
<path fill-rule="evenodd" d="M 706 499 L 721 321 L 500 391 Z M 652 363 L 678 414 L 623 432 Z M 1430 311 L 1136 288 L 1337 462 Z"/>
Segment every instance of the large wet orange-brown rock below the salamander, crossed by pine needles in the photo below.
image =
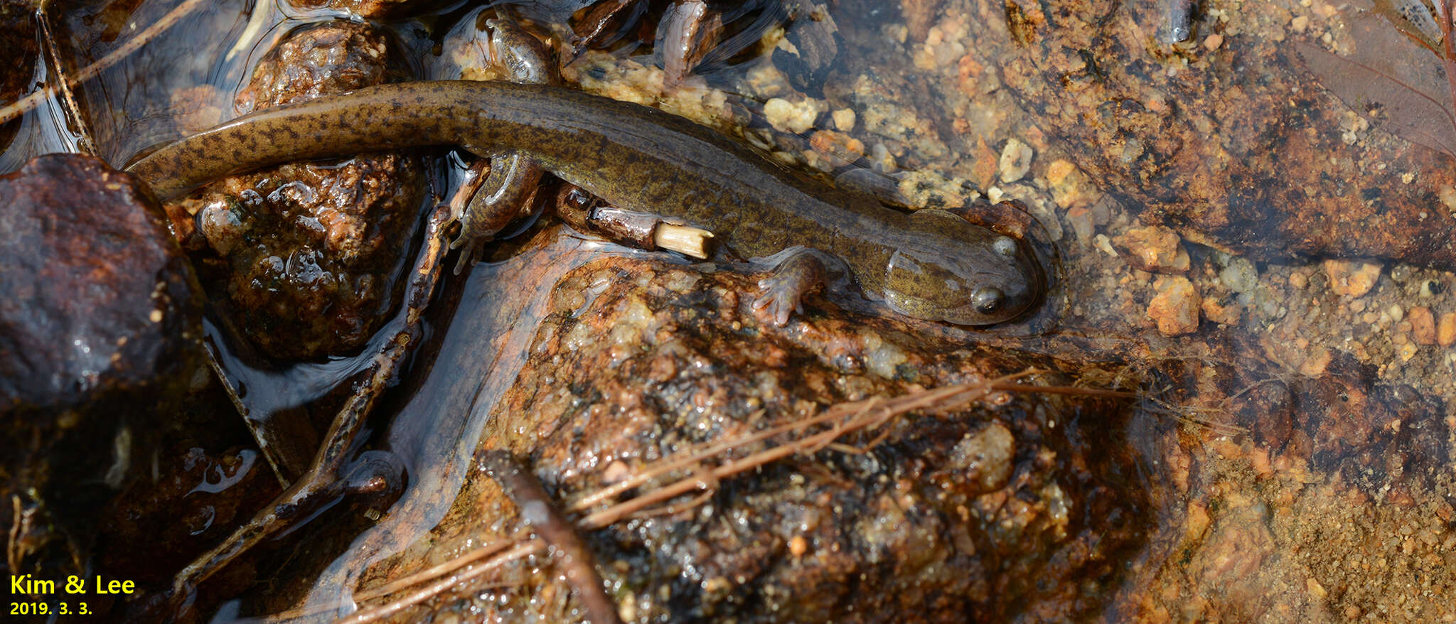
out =
<path fill-rule="evenodd" d="M 695 445 L 842 401 L 1028 367 L 1061 371 L 1028 380 L 1038 384 L 1111 378 L 927 337 L 925 326 L 823 300 L 773 327 L 751 311 L 756 276 L 705 269 L 612 257 L 568 273 L 480 449 L 529 458 L 569 502 Z M 879 431 L 850 435 L 844 447 L 786 457 L 715 483 L 702 500 L 686 503 L 689 495 L 585 537 L 628 621 L 1093 614 L 1152 522 L 1146 489 L 1131 483 L 1136 460 L 1115 442 L 1128 413 L 1111 399 L 999 391 L 951 413 L 891 420 L 878 444 Z M 764 448 L 748 444 L 737 457 Z M 504 538 L 513 518 L 495 483 L 473 474 L 454 511 L 376 566 L 360 591 Z M 513 567 L 489 583 L 431 608 L 571 612 L 566 588 L 539 569 Z"/>

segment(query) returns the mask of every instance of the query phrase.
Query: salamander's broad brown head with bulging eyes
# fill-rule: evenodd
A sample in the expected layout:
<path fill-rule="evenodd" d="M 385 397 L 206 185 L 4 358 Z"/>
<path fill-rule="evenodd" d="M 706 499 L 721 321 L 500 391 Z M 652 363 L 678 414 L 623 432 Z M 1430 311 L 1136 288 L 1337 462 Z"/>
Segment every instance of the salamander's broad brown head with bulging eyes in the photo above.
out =
<path fill-rule="evenodd" d="M 1042 272 L 1022 241 L 951 212 L 910 215 L 911 240 L 885 269 L 885 301 L 916 319 L 955 324 L 1003 323 L 1042 295 Z"/>

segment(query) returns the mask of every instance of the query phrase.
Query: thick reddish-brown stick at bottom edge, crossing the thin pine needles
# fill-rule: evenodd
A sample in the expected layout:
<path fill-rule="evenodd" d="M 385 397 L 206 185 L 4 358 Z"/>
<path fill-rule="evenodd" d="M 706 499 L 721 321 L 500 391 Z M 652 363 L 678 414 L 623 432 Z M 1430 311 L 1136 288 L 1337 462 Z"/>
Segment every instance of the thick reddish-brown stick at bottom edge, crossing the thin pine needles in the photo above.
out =
<path fill-rule="evenodd" d="M 577 588 L 581 605 L 587 609 L 587 621 L 622 624 L 617 605 L 607 595 L 606 583 L 597 573 L 596 557 L 577 535 L 577 527 L 556 509 L 536 476 L 521 467 L 508 451 L 486 451 L 480 457 L 480 465 L 501 484 L 505 495 L 515 500 L 521 518 L 550 544 L 552 559 L 561 566 L 566 582 Z"/>

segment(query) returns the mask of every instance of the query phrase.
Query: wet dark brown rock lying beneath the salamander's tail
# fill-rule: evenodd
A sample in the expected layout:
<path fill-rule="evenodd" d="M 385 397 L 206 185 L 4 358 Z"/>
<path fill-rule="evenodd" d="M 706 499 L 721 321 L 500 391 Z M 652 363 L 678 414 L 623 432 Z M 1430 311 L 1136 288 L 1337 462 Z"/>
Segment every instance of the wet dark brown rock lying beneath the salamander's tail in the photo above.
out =
<path fill-rule="evenodd" d="M 290 33 L 237 97 L 239 112 L 405 80 L 384 33 L 325 22 Z M 236 324 L 264 353 L 357 351 L 393 307 L 424 193 L 418 157 L 290 163 L 220 180 L 170 207 L 189 249 L 221 256 Z M 207 266 L 207 265 L 204 265 Z"/>

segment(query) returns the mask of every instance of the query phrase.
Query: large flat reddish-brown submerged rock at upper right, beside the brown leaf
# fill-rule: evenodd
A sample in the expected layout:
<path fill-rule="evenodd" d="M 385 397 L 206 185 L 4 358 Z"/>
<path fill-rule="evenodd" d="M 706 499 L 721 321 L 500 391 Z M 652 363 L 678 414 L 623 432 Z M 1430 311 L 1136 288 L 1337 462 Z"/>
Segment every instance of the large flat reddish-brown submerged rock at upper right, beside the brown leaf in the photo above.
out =
<path fill-rule="evenodd" d="M 1102 189 L 1190 241 L 1456 268 L 1456 214 L 1441 201 L 1456 185 L 1450 157 L 1370 128 L 1358 116 L 1370 111 L 1353 112 L 1297 54 L 1294 39 L 1370 45 L 1351 42 L 1347 13 L 1200 4 L 1206 45 L 1169 45 L 1156 36 L 1163 4 L 971 3 L 967 57 L 1085 150 L 1077 164 Z"/>

